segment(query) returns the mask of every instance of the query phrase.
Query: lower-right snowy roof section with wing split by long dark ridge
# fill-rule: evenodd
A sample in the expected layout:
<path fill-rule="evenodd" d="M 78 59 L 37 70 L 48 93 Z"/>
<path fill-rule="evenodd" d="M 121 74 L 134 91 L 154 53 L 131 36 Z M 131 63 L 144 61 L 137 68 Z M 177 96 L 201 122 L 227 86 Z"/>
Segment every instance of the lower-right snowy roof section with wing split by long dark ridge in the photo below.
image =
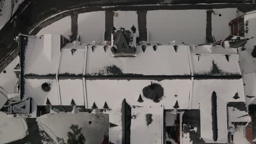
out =
<path fill-rule="evenodd" d="M 194 80 L 191 109 L 200 109 L 201 137 L 213 142 L 212 94 L 217 95 L 217 136 L 218 142 L 227 142 L 228 125 L 226 106 L 228 102 L 245 102 L 242 79 Z M 235 97 L 237 95 L 237 97 Z"/>

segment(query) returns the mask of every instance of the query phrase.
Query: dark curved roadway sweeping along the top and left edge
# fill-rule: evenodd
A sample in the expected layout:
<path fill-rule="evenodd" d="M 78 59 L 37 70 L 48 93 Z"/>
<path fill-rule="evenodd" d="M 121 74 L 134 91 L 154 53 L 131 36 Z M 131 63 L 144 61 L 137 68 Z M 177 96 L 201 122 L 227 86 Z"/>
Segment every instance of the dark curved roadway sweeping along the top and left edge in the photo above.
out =
<path fill-rule="evenodd" d="M 16 50 L 18 43 L 14 38 L 19 34 L 29 34 L 29 32 L 44 21 L 47 17 L 61 13 L 61 11 L 77 9 L 73 12 L 68 11 L 59 14 L 54 18 L 43 22 L 42 25 L 37 26 L 31 34 L 36 34 L 39 30 L 56 20 L 71 13 L 85 13 L 86 11 L 97 10 L 117 10 L 118 8 L 102 8 L 101 6 L 123 5 L 120 9 L 123 10 L 152 10 L 159 9 L 213 9 L 213 8 L 234 8 L 241 7 L 246 10 L 254 9 L 255 4 L 244 3 L 246 0 L 25 0 L 7 22 L 7 24 L 0 30 L 0 73 L 1 71 L 18 55 Z M 194 3 L 236 3 L 236 4 L 194 4 Z M 251 2 L 251 0 L 246 1 Z M 187 5 L 152 5 L 152 4 L 187 4 Z M 150 4 L 150 6 L 146 6 Z M 193 5 L 190 5 L 193 4 Z M 142 5 L 140 7 L 132 7 L 125 5 Z M 144 5 L 144 6 L 143 6 Z"/>

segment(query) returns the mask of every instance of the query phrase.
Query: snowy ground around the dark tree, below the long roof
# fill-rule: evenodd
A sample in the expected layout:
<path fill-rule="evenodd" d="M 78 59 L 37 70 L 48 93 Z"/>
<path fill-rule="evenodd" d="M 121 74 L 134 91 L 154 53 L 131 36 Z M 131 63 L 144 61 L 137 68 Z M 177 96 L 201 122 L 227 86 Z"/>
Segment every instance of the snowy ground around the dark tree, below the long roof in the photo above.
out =
<path fill-rule="evenodd" d="M 108 115 L 93 113 L 63 113 L 57 115 L 47 114 L 37 118 L 39 127 L 56 142 L 57 137 L 67 141 L 67 132 L 71 131 L 69 127 L 77 124 L 82 128 L 82 133 L 86 143 L 102 143 L 104 135 L 108 135 Z M 91 124 L 90 124 L 91 122 Z"/>

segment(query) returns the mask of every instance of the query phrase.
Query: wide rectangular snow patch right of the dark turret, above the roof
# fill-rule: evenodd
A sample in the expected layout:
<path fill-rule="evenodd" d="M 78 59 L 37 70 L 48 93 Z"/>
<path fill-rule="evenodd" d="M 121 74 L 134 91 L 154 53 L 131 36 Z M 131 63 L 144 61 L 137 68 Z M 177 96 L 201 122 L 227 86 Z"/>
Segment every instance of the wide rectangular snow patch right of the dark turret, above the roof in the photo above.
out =
<path fill-rule="evenodd" d="M 156 40 L 161 44 L 168 44 L 170 40 L 178 40 L 185 44 L 204 44 L 206 10 L 148 11 L 147 31 L 149 41 Z"/>

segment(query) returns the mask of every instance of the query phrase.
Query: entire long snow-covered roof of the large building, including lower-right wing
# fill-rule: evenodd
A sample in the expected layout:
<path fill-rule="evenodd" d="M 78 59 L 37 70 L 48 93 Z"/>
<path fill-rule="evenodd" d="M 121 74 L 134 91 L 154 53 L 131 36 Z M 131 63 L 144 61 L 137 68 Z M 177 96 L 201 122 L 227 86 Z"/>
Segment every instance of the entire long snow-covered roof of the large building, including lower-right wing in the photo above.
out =
<path fill-rule="evenodd" d="M 135 57 L 113 57 L 110 46 L 78 41 L 62 46 L 60 38 L 57 34 L 21 37 L 21 96 L 33 98 L 33 107 L 113 109 L 125 99 L 139 107 L 200 109 L 203 140 L 228 141 L 226 119 L 240 115 L 227 113 L 227 103 L 245 103 L 234 50 L 213 45 L 138 45 Z"/>

